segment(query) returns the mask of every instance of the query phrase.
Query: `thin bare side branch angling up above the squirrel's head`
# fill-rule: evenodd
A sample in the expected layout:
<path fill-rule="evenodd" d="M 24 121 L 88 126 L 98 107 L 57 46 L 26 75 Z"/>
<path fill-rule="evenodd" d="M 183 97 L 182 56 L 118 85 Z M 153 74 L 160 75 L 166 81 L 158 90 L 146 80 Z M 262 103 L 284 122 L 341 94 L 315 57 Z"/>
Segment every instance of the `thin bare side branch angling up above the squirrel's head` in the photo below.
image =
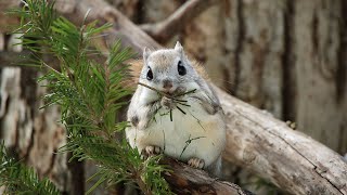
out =
<path fill-rule="evenodd" d="M 153 39 L 160 43 L 167 42 L 177 32 L 181 31 L 185 24 L 198 16 L 217 0 L 190 0 L 180 6 L 165 21 L 155 24 L 141 25 L 141 29 L 147 32 Z"/>

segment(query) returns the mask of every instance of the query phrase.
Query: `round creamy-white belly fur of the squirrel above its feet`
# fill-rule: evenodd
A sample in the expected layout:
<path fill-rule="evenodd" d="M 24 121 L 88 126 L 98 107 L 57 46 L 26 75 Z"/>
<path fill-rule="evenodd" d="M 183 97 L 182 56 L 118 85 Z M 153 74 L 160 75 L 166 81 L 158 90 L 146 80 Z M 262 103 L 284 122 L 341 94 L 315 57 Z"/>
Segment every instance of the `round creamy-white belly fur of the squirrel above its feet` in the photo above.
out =
<path fill-rule="evenodd" d="M 197 157 L 204 159 L 206 167 L 211 165 L 226 142 L 222 116 L 207 114 L 195 100 L 189 99 L 188 104 L 191 107 L 179 105 L 185 115 L 177 108 L 172 110 L 172 121 L 168 110 L 160 108 L 146 129 L 127 129 L 130 145 L 138 147 L 139 152 L 145 146 L 156 145 L 174 158 L 188 161 Z M 167 115 L 160 116 L 165 113 Z"/>

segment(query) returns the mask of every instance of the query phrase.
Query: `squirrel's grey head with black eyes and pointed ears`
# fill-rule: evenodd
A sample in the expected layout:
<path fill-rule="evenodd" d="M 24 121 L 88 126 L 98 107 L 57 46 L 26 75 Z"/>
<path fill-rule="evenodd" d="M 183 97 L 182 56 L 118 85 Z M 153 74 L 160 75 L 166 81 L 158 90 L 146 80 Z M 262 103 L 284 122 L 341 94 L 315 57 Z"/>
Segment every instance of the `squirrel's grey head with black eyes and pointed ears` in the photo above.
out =
<path fill-rule="evenodd" d="M 189 82 L 194 82 L 197 77 L 180 42 L 176 43 L 175 49 L 154 52 L 144 48 L 140 82 L 172 93 L 179 87 L 187 87 Z"/>

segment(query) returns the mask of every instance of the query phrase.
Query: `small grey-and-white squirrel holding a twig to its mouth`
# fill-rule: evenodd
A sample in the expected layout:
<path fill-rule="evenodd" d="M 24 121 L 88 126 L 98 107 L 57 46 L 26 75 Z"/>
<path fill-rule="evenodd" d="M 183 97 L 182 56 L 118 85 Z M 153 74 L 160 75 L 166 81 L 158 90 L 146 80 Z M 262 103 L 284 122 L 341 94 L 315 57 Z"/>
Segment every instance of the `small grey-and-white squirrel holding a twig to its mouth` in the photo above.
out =
<path fill-rule="evenodd" d="M 144 48 L 139 75 L 127 114 L 131 147 L 144 156 L 164 153 L 220 176 L 224 115 L 204 68 L 190 62 L 177 42 L 175 49 Z"/>

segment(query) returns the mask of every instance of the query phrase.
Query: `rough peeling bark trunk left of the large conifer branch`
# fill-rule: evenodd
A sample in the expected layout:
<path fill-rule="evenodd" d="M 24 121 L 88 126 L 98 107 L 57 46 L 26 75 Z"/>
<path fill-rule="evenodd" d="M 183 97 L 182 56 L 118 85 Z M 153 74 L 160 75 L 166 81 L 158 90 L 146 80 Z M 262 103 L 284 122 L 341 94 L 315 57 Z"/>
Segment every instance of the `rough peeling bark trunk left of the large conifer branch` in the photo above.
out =
<path fill-rule="evenodd" d="M 4 67 L 1 76 L 0 139 L 18 159 L 33 166 L 39 177 L 48 176 L 64 192 L 68 171 L 66 154 L 57 154 L 65 143 L 65 130 L 56 106 L 39 109 L 46 93 L 36 82 L 38 70 L 29 67 Z"/>

